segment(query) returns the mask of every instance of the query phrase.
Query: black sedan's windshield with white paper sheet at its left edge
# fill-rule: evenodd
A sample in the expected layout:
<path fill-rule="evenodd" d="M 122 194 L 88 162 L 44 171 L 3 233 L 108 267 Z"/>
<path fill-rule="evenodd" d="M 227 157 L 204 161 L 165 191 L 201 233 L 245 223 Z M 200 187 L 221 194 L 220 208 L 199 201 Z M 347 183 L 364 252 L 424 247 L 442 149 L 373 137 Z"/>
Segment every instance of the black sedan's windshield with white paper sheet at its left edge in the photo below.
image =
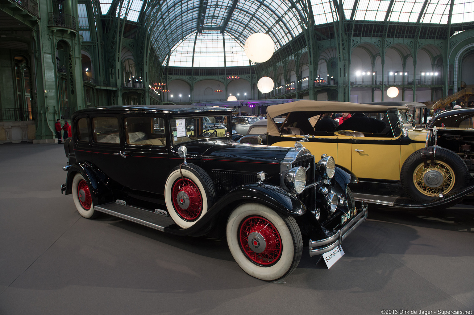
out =
<path fill-rule="evenodd" d="M 230 135 L 230 116 L 174 117 L 170 119 L 172 145 Z"/>

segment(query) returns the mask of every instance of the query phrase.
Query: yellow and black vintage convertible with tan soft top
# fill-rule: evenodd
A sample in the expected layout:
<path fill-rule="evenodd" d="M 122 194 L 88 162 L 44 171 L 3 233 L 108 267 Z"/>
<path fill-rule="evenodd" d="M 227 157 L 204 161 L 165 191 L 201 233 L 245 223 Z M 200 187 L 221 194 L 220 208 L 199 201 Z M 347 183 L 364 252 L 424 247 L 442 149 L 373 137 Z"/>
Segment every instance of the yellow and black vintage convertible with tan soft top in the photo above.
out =
<path fill-rule="evenodd" d="M 470 169 L 459 151 L 452 151 L 448 144 L 434 149 L 432 143 L 427 146 L 428 130 L 415 129 L 409 111 L 407 107 L 312 100 L 271 105 L 267 107 L 267 144 L 292 146 L 303 141 L 315 156 L 331 154 L 337 165 L 359 178 L 354 188 L 359 199 L 401 207 L 456 203 L 472 192 Z M 314 131 L 310 117 L 327 112 L 363 112 L 385 121 L 386 129 L 380 133 Z M 278 128 L 271 118 L 280 115 L 287 118 Z"/>

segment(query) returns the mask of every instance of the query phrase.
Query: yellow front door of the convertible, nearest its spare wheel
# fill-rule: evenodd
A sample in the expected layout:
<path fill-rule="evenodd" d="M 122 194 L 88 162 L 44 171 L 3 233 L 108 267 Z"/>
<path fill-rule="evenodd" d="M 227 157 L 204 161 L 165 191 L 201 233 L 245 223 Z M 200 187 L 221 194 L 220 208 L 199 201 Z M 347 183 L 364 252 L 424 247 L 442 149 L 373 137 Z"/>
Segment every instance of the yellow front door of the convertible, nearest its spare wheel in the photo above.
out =
<path fill-rule="evenodd" d="M 400 136 L 353 137 L 352 172 L 359 178 L 400 180 Z"/>

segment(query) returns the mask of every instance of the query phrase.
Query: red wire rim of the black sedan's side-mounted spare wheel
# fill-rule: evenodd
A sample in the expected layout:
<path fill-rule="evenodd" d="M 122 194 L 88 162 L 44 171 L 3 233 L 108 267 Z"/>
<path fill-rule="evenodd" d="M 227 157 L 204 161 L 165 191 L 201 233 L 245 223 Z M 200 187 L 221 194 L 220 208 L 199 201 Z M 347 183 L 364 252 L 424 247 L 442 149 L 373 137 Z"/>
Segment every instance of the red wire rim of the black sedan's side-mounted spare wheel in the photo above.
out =
<path fill-rule="evenodd" d="M 193 221 L 201 216 L 202 196 L 192 180 L 187 178 L 176 180 L 171 199 L 176 213 L 184 220 Z"/>

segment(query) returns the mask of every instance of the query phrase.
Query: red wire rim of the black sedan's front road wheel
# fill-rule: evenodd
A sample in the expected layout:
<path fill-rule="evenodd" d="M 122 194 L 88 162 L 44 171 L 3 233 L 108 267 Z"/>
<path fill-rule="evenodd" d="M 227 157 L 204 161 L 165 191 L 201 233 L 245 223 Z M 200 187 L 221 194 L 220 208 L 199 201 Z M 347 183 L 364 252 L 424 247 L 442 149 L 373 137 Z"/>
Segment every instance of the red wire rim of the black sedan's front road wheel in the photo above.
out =
<path fill-rule="evenodd" d="M 262 266 L 276 263 L 282 255 L 282 239 L 275 226 L 262 216 L 250 216 L 240 225 L 240 247 L 246 256 Z"/>

